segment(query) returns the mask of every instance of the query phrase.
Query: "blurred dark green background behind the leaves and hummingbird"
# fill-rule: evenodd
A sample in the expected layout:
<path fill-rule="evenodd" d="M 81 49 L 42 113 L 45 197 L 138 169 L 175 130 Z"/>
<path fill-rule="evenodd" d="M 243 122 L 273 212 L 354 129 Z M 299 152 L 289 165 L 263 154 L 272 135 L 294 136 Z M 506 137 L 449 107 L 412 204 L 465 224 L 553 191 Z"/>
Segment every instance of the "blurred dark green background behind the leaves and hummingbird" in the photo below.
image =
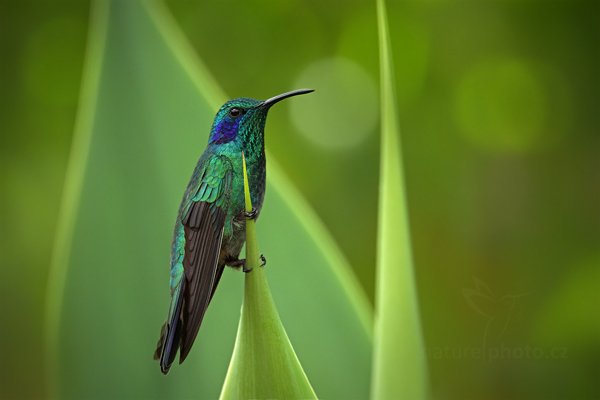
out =
<path fill-rule="evenodd" d="M 167 6 L 231 97 L 318 90 L 271 114 L 267 146 L 372 298 L 374 3 Z M 388 8 L 433 397 L 600 398 L 598 3 Z M 47 395 L 44 303 L 88 24 L 87 2 L 0 3 L 2 399 Z"/>

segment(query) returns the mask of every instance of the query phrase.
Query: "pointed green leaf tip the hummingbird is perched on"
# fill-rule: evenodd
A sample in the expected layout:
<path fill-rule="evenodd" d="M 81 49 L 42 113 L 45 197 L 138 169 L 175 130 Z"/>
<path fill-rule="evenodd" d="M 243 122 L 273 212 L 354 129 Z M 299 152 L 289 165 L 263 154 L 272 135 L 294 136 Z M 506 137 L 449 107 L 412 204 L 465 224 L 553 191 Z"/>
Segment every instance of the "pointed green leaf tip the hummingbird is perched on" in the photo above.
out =
<path fill-rule="evenodd" d="M 243 155 L 242 155 L 243 157 Z M 252 210 L 246 160 L 246 211 Z M 244 304 L 233 356 L 221 399 L 316 399 L 271 296 L 265 270 L 259 266 L 255 221 L 246 221 Z"/>

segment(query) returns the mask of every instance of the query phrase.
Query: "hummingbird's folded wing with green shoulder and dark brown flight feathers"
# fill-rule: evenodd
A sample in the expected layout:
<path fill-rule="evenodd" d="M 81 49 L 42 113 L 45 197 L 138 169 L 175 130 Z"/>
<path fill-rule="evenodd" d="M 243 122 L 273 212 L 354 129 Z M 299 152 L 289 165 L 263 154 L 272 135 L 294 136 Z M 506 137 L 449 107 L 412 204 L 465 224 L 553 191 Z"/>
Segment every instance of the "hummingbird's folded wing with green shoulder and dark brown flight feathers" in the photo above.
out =
<path fill-rule="evenodd" d="M 154 354 L 164 374 L 178 349 L 180 363 L 187 357 L 223 273 L 219 254 L 232 171 L 227 157 L 203 155 L 185 192 L 178 222 L 184 234 L 183 260 L 179 261 L 184 273 L 172 293 L 169 317 Z"/>

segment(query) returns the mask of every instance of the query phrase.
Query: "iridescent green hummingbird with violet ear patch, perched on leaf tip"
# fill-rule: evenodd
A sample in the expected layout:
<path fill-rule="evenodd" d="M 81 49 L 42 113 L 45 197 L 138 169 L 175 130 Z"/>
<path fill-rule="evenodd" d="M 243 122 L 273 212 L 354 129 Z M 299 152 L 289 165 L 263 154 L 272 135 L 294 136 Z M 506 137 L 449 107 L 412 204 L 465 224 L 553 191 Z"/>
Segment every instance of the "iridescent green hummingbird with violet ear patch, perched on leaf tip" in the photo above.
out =
<path fill-rule="evenodd" d="M 175 222 L 171 303 L 154 352 L 163 374 L 169 372 L 178 350 L 180 364 L 188 356 L 225 266 L 246 272 L 239 254 L 246 240 L 246 219 L 258 218 L 265 196 L 264 129 L 269 109 L 312 91 L 294 90 L 264 101 L 237 98 L 217 112 Z M 244 206 L 242 155 L 254 207 L 249 213 Z"/>

